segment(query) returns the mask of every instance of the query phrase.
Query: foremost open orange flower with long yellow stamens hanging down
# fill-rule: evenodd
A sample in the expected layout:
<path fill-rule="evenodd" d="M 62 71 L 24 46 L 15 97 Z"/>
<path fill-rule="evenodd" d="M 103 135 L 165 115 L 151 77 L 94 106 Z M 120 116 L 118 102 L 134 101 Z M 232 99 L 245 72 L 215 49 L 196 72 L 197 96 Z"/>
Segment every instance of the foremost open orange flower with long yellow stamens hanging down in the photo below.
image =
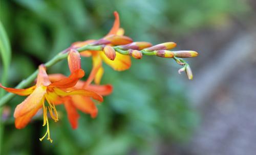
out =
<path fill-rule="evenodd" d="M 27 89 L 15 89 L 7 88 L 0 84 L 0 87 L 4 88 L 8 92 L 22 96 L 29 95 L 21 104 L 15 108 L 14 118 L 16 128 L 24 128 L 30 122 L 31 118 L 37 113 L 37 111 L 42 108 L 44 115 L 43 126 L 47 125 L 47 132 L 42 138 L 40 138 L 40 141 L 48 135 L 48 140 L 52 142 L 52 139 L 50 138 L 47 111 L 49 111 L 51 118 L 55 122 L 58 121 L 55 102 L 58 102 L 60 98 L 70 95 L 87 96 L 102 101 L 102 96 L 93 91 L 84 89 L 76 89 L 73 91 L 63 90 L 75 86 L 77 81 L 84 76 L 84 71 L 82 69 L 74 70 L 75 67 L 79 66 L 79 63 L 75 63 L 75 61 L 73 61 L 73 59 L 76 60 L 76 58 L 77 53 L 71 52 L 69 54 L 69 62 L 73 62 L 70 64 L 70 68 L 73 68 L 72 73 L 69 77 L 59 81 L 51 83 L 46 73 L 45 66 L 40 65 L 35 86 Z M 45 103 L 45 99 L 47 100 L 48 104 Z"/>

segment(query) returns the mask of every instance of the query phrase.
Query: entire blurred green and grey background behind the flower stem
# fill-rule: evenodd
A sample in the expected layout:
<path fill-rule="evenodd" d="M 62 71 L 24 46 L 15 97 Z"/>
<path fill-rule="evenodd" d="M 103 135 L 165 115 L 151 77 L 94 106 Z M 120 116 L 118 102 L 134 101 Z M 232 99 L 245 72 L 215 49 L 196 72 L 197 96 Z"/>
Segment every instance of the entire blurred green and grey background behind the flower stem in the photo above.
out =
<path fill-rule="evenodd" d="M 4 107 L 2 154 L 255 154 L 255 9 L 253 0 L 1 0 L 12 49 L 9 87 L 72 42 L 104 36 L 114 11 L 135 41 L 174 41 L 200 54 L 187 59 L 193 81 L 172 59 L 133 59 L 123 72 L 104 65 L 101 83 L 114 92 L 97 105 L 98 117 L 80 113 L 73 131 L 58 106 L 53 143 L 39 141 L 46 132 L 41 116 L 15 128 L 13 111 L 24 99 L 16 96 Z M 87 75 L 91 64 L 82 58 Z M 48 70 L 56 72 L 68 75 L 67 61 Z"/>

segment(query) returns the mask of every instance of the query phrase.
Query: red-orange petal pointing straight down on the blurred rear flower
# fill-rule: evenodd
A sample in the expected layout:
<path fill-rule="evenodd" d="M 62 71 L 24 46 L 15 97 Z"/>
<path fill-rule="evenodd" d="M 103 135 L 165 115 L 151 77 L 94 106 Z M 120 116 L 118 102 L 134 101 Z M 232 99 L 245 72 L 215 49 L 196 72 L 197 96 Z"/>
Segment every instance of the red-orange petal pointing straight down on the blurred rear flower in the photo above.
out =
<path fill-rule="evenodd" d="M 73 103 L 71 101 L 66 101 L 64 106 L 67 111 L 69 122 L 70 122 L 72 128 L 76 129 L 78 126 L 78 118 L 80 116 L 77 113 L 75 106 L 73 105 Z"/>

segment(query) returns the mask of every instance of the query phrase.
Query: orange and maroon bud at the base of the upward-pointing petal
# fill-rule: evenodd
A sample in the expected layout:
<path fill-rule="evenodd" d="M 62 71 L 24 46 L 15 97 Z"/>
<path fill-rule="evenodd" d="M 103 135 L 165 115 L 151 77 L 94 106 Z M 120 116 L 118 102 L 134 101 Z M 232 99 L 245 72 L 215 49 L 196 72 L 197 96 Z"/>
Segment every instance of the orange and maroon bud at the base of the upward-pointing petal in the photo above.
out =
<path fill-rule="evenodd" d="M 113 45 L 125 45 L 133 42 L 133 39 L 126 36 L 110 35 L 103 38 L 110 41 Z"/>

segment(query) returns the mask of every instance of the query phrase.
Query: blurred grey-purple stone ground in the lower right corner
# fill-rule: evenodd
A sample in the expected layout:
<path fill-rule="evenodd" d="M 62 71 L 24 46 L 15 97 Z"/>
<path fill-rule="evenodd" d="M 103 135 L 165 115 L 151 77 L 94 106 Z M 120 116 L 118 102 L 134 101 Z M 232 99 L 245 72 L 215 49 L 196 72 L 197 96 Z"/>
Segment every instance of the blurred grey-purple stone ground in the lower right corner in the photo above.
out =
<path fill-rule="evenodd" d="M 187 154 L 255 154 L 256 64 L 244 63 L 218 87 Z"/>

